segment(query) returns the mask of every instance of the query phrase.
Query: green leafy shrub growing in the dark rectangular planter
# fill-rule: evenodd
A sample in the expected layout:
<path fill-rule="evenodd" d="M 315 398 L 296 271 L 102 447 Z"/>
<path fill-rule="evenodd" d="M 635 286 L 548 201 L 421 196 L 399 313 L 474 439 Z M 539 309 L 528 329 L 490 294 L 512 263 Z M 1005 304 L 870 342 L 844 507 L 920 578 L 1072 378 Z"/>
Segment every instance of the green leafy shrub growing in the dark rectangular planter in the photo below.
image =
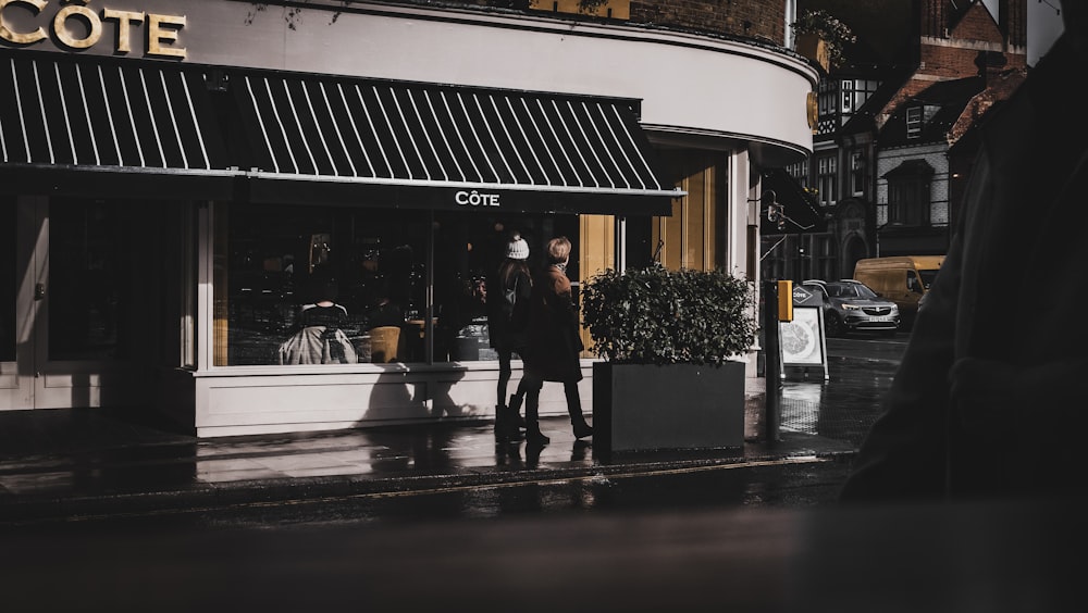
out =
<path fill-rule="evenodd" d="M 607 270 L 582 288 L 598 356 L 635 364 L 721 364 L 755 341 L 752 286 L 722 271 Z"/>

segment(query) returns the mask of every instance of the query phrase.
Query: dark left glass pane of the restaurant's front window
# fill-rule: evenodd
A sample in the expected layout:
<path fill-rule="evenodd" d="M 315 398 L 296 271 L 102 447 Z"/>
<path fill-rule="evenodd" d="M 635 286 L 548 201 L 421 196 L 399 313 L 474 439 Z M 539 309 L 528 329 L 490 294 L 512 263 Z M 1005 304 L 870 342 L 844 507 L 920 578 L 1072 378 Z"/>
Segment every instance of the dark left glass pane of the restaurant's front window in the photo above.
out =
<path fill-rule="evenodd" d="M 335 326 L 319 317 L 327 336 L 346 338 L 353 361 L 370 362 L 371 328 L 400 328 L 423 310 L 426 222 L 418 213 L 234 204 L 220 216 L 219 232 L 224 225 L 226 270 L 217 275 L 215 291 L 227 297 L 219 313 L 226 325 L 217 326 L 227 335 L 227 364 L 281 363 L 284 343 L 313 323 L 308 320 L 322 309 L 312 309 L 326 300 L 343 313 Z M 422 361 L 421 347 L 407 335 L 394 342 L 396 350 L 382 349 L 381 361 Z M 343 361 L 339 348 L 332 349 L 333 360 Z"/>

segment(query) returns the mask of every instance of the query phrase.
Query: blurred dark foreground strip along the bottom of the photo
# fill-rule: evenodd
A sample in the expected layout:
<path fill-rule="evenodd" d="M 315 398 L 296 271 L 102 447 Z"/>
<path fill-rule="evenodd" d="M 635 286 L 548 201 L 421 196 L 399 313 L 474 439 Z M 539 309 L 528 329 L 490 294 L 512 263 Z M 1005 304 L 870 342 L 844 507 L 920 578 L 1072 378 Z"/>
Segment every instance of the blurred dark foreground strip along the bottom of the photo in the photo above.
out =
<path fill-rule="evenodd" d="M 1081 499 L 0 537 L 7 611 L 1072 611 Z"/>

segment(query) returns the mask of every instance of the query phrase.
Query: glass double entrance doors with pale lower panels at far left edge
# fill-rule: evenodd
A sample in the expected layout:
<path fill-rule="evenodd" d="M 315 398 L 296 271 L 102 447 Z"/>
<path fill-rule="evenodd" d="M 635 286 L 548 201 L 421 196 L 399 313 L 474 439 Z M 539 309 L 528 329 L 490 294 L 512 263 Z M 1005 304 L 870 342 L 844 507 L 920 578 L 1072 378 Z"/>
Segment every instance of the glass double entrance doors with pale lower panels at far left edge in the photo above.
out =
<path fill-rule="evenodd" d="M 121 383 L 122 372 L 120 209 L 44 197 L 2 203 L 0 409 L 101 405 L 103 381 Z"/>

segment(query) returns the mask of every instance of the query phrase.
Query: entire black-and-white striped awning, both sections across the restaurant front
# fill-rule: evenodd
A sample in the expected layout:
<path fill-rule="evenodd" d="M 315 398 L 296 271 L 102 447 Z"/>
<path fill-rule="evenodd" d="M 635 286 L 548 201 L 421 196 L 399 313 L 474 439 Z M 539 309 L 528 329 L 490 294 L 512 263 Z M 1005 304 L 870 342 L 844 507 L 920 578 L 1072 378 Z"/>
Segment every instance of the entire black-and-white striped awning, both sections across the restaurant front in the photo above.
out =
<path fill-rule="evenodd" d="M 636 105 L 0 50 L 0 191 L 669 215 Z"/>

